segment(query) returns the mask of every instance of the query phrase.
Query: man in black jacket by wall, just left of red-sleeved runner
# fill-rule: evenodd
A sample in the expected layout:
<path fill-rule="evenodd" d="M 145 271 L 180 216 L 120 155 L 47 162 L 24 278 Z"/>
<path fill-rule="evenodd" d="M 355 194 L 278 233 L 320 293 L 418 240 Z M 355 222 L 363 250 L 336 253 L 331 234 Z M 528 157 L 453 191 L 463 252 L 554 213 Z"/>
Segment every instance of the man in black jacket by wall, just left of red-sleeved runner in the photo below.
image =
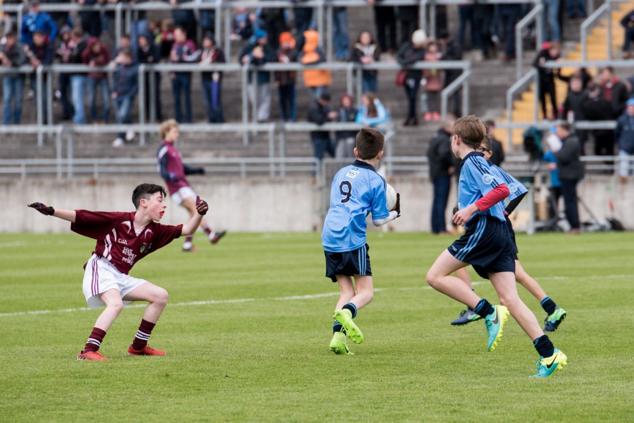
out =
<path fill-rule="evenodd" d="M 447 208 L 451 174 L 454 172 L 453 154 L 451 153 L 451 130 L 456 118 L 447 115 L 443 127 L 436 131 L 427 150 L 429 163 L 429 179 L 434 185 L 434 202 L 432 203 L 432 233 L 447 233 L 444 214 Z"/>

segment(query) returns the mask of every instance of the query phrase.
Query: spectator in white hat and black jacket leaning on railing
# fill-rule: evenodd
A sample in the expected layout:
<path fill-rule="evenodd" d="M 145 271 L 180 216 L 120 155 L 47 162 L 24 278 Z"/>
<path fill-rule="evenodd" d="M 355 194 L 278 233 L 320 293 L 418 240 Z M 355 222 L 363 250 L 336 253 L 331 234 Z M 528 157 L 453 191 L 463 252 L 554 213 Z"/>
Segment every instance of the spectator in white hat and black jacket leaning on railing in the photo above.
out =
<path fill-rule="evenodd" d="M 417 29 L 411 34 L 411 42 L 403 44 L 397 54 L 398 63 L 403 67 L 403 70 L 401 70 L 401 72 L 404 72 L 403 86 L 409 103 L 407 119 L 404 122 L 405 126 L 418 125 L 416 103 L 423 72 L 420 69 L 408 69 L 407 67 L 419 60 L 424 60 L 425 42 L 427 42 L 427 35 L 424 30 Z"/>

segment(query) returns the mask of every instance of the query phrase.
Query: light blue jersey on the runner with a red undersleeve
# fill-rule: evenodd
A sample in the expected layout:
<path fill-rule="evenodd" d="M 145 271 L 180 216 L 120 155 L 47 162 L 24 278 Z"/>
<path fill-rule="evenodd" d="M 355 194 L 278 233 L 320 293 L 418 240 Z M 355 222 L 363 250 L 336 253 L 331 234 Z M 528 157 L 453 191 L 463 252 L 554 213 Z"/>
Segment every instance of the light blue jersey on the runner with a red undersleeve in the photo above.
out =
<path fill-rule="evenodd" d="M 505 183 L 503 179 L 491 171 L 483 156 L 484 153 L 470 152 L 467 157 L 462 159 L 462 170 L 460 171 L 460 181 L 458 181 L 458 209 L 464 209 L 467 205 L 474 204 L 493 188 Z M 483 212 L 474 213 L 469 221 L 481 214 L 488 214 L 502 222 L 505 221 L 502 204 L 503 202 L 499 202 Z M 468 224 L 469 222 L 465 227 Z"/>

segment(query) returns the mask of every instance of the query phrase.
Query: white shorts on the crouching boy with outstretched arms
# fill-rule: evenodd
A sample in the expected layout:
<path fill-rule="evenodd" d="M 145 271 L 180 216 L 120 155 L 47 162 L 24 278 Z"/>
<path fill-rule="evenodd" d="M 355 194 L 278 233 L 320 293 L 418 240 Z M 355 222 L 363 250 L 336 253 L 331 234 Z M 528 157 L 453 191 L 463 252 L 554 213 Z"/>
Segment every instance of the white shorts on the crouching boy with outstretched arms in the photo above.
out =
<path fill-rule="evenodd" d="M 86 263 L 86 271 L 84 272 L 83 288 L 86 303 L 88 303 L 89 308 L 100 308 L 105 306 L 105 303 L 101 301 L 99 294 L 103 294 L 109 289 L 116 289 L 123 298 L 146 282 L 148 281 L 121 273 L 106 259 L 93 254 Z M 134 301 L 124 301 L 123 305 L 125 307 L 132 303 Z"/>

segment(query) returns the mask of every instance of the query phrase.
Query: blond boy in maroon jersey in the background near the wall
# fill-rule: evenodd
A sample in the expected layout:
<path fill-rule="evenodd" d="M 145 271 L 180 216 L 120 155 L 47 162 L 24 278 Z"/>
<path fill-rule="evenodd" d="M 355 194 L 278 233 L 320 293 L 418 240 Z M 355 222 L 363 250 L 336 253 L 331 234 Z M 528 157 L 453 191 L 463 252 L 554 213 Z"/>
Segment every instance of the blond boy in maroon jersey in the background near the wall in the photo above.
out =
<path fill-rule="evenodd" d="M 178 122 L 176 122 L 176 120 L 165 120 L 160 126 L 159 133 L 163 140 L 159 152 L 157 152 L 160 176 L 165 180 L 167 191 L 169 191 L 172 200 L 177 205 L 182 205 L 190 216 L 194 216 L 196 214 L 196 205 L 194 204 L 196 194 L 185 175 L 205 174 L 205 169 L 203 167 L 189 167 L 183 164 L 181 152 L 174 146 L 174 143 L 176 143 L 180 135 Z M 220 238 L 224 237 L 227 233 L 227 231 L 213 231 L 209 225 L 207 225 L 205 219 L 202 219 L 200 222 L 200 227 L 205 231 L 207 237 L 209 237 L 211 244 L 216 244 Z M 183 251 L 195 251 L 191 244 L 193 238 L 193 233 L 185 238 Z"/>

